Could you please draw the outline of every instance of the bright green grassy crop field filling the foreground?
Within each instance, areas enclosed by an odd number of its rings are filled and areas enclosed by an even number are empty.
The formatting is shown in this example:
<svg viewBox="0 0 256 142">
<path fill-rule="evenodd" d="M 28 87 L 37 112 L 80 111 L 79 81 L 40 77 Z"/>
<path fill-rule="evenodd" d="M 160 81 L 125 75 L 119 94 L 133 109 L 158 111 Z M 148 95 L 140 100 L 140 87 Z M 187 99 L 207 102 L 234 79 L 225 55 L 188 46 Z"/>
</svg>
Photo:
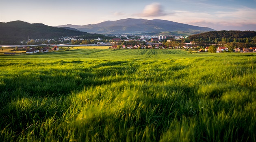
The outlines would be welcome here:
<svg viewBox="0 0 256 142">
<path fill-rule="evenodd" d="M 255 142 L 256 54 L 0 55 L 0 141 Z"/>
</svg>

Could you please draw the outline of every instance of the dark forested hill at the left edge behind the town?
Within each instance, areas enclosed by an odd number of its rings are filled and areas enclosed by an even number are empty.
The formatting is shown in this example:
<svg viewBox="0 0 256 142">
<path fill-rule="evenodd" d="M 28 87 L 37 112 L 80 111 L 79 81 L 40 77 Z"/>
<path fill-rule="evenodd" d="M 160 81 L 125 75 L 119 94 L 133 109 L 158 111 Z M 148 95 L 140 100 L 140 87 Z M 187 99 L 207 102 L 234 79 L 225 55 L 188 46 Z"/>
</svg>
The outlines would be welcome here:
<svg viewBox="0 0 256 142">
<path fill-rule="evenodd" d="M 0 40 L 2 41 L 28 40 L 28 36 L 33 39 L 47 39 L 88 34 L 87 32 L 51 27 L 42 23 L 30 24 L 24 21 L 0 22 Z"/>
</svg>

